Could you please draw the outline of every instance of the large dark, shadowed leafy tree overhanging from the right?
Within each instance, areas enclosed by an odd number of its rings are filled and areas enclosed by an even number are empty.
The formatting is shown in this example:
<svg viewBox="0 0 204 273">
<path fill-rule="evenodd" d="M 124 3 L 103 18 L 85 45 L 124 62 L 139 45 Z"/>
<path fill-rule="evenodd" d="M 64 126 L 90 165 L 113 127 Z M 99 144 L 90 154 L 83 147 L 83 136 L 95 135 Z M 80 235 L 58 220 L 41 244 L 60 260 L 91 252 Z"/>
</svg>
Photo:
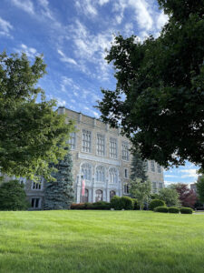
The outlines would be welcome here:
<svg viewBox="0 0 204 273">
<path fill-rule="evenodd" d="M 143 159 L 204 167 L 204 1 L 158 2 L 169 15 L 158 38 L 115 37 L 106 60 L 117 85 L 102 89 L 98 108 Z"/>
</svg>

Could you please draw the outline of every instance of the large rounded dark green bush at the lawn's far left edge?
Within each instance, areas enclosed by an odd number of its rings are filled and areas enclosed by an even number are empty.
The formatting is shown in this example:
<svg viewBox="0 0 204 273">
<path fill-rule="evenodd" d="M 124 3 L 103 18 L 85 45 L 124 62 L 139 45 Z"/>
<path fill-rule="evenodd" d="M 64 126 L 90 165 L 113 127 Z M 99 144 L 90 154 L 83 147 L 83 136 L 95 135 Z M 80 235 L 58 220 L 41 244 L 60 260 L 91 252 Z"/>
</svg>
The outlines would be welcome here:
<svg viewBox="0 0 204 273">
<path fill-rule="evenodd" d="M 25 210 L 28 207 L 24 185 L 11 180 L 0 186 L 0 210 Z"/>
</svg>

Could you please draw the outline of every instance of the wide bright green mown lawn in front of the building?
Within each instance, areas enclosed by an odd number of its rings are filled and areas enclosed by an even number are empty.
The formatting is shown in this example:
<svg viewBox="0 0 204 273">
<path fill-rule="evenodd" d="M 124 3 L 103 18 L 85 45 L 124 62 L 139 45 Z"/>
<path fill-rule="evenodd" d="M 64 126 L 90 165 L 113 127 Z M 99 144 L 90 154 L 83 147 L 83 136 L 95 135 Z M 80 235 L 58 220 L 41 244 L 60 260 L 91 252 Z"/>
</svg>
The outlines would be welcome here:
<svg viewBox="0 0 204 273">
<path fill-rule="evenodd" d="M 0 212 L 0 272 L 204 272 L 204 215 Z"/>
</svg>

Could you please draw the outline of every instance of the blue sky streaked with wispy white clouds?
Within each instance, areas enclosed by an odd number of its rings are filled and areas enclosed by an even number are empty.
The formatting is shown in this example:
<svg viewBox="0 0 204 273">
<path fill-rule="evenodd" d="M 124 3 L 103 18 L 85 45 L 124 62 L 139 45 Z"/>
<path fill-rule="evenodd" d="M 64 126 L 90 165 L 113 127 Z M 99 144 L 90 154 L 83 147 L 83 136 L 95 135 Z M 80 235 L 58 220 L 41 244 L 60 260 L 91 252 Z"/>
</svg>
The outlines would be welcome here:
<svg viewBox="0 0 204 273">
<path fill-rule="evenodd" d="M 1 0 L 0 52 L 24 52 L 31 62 L 43 54 L 46 97 L 98 118 L 101 88 L 116 84 L 104 60 L 114 36 L 157 37 L 167 21 L 155 0 Z M 187 162 L 164 171 L 166 186 L 195 182 L 197 169 Z"/>
</svg>

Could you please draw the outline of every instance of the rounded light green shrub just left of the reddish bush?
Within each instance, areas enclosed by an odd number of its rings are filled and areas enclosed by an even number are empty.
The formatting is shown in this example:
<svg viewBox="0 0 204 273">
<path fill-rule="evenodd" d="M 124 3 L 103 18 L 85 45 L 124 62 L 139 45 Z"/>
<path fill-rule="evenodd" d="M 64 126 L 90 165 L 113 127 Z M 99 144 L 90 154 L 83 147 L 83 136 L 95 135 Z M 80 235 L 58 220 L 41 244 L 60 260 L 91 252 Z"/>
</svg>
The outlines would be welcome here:
<svg viewBox="0 0 204 273">
<path fill-rule="evenodd" d="M 159 196 L 160 199 L 163 200 L 168 207 L 180 206 L 179 194 L 174 188 L 161 188 Z"/>
</svg>

